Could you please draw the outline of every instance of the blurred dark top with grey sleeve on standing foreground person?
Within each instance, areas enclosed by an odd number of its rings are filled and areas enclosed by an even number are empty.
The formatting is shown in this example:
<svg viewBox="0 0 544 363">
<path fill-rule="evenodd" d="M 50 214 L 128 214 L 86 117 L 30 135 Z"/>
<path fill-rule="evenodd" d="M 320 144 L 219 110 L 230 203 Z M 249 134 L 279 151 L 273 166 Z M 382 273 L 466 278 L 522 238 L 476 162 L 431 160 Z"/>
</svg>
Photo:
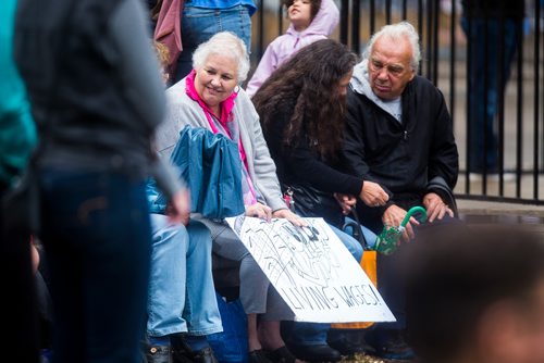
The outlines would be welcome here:
<svg viewBox="0 0 544 363">
<path fill-rule="evenodd" d="M 42 165 L 146 174 L 164 86 L 136 0 L 21 0 L 14 55 Z"/>
</svg>

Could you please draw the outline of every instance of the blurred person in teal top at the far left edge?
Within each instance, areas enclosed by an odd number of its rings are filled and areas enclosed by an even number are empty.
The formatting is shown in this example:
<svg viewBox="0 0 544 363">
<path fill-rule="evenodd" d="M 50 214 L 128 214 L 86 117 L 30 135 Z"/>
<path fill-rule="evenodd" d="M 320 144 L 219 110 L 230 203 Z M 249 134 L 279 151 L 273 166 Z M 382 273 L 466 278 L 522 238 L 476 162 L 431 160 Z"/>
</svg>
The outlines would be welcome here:
<svg viewBox="0 0 544 363">
<path fill-rule="evenodd" d="M 26 90 L 13 61 L 13 28 L 17 1 L 0 2 L 0 199 L 16 183 L 36 145 L 36 127 Z M 36 295 L 30 263 L 30 235 L 8 226 L 0 208 L 2 287 L 5 311 L 2 322 L 10 327 L 2 351 L 16 352 L 21 362 L 38 361 Z"/>
</svg>

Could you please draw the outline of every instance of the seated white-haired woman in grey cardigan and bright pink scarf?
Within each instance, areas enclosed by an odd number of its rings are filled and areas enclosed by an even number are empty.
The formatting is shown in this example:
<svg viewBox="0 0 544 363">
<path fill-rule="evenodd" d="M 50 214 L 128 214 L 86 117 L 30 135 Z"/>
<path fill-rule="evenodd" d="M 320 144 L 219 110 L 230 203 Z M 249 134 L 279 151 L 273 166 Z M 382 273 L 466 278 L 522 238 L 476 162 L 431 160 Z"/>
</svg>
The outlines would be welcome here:
<svg viewBox="0 0 544 363">
<path fill-rule="evenodd" d="M 184 126 L 223 134 L 238 146 L 246 215 L 305 222 L 290 212 L 280 189 L 275 165 L 262 136 L 259 116 L 245 91 L 249 58 L 244 42 L 222 32 L 201 43 L 193 55 L 193 72 L 168 90 L 168 116 L 157 135 L 162 153 L 172 152 Z M 250 362 L 294 362 L 280 335 L 280 321 L 293 318 L 290 310 L 234 231 L 222 222 L 198 215 L 213 238 L 213 252 L 239 261 L 239 297 L 248 315 Z M 270 291 L 269 291 L 270 289 Z M 259 327 L 257 315 L 262 314 Z M 261 338 L 259 340 L 259 338 Z M 264 353 L 264 350 L 270 353 Z"/>
</svg>

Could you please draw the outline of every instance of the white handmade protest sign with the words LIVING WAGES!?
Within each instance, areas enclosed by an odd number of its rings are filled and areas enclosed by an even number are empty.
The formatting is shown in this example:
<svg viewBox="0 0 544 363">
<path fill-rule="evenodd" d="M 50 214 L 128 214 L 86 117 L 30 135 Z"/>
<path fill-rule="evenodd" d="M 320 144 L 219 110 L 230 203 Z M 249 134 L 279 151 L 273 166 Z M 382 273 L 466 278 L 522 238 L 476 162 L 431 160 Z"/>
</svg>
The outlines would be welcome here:
<svg viewBox="0 0 544 363">
<path fill-rule="evenodd" d="M 394 322 L 395 317 L 323 218 L 308 227 L 286 220 L 237 216 L 226 222 L 249 250 L 295 320 L 318 323 Z"/>
</svg>

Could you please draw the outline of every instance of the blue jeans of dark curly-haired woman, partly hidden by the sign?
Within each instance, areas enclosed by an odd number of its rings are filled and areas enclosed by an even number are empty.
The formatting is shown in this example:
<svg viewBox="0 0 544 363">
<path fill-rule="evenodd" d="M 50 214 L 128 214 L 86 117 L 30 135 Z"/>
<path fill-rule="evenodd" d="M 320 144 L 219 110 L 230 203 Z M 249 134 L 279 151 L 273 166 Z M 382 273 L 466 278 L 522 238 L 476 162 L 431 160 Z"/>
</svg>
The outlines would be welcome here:
<svg viewBox="0 0 544 363">
<path fill-rule="evenodd" d="M 360 262 L 362 259 L 362 246 L 359 241 L 335 226 L 331 224 L 329 226 L 348 249 L 354 259 Z M 326 335 L 331 325 L 325 323 L 295 322 L 293 323 L 288 340 L 290 343 L 301 346 L 326 345 Z"/>
</svg>

